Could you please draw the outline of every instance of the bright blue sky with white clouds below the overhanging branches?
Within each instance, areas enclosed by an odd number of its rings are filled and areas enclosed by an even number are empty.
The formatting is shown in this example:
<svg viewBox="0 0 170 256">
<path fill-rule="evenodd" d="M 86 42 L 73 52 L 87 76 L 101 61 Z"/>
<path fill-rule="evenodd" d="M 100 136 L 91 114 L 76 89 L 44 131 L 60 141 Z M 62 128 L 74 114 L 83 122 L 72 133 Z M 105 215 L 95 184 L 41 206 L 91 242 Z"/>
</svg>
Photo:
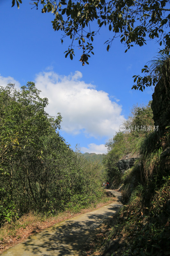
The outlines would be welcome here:
<svg viewBox="0 0 170 256">
<path fill-rule="evenodd" d="M 80 144 L 83 153 L 106 152 L 104 144 L 128 118 L 130 108 L 152 99 L 151 88 L 131 90 L 132 76 L 157 55 L 159 44 L 148 41 L 124 53 L 118 38 L 107 52 L 104 42 L 112 34 L 103 27 L 94 37 L 95 55 L 83 67 L 76 47 L 76 57 L 65 58 L 70 41 L 65 38 L 61 44 L 61 33 L 52 28 L 53 15 L 31 7 L 29 1 L 19 10 L 11 8 L 11 0 L 0 2 L 0 84 L 19 87 L 34 81 L 41 96 L 49 99 L 47 112 L 63 116 L 60 134 L 73 149 Z"/>
</svg>

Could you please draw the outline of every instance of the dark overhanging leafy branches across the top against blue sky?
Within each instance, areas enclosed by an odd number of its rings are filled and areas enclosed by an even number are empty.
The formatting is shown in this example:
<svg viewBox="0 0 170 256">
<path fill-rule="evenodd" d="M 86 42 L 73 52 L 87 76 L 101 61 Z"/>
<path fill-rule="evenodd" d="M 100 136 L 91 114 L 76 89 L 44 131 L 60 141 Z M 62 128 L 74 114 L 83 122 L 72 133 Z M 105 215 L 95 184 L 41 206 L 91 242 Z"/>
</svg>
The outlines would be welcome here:
<svg viewBox="0 0 170 256">
<path fill-rule="evenodd" d="M 84 66 L 93 52 L 93 38 L 99 34 L 101 27 L 110 31 L 106 38 L 107 51 L 116 37 L 125 44 L 126 50 L 135 44 L 143 46 L 147 40 L 156 39 L 162 50 L 169 54 L 170 48 L 170 1 L 169 0 L 32 0 L 33 7 L 41 7 L 42 13 L 51 12 L 51 21 L 55 31 L 61 30 L 63 37 L 70 37 L 70 44 L 65 57 L 73 59 L 75 46 L 82 50 L 80 61 Z M 21 0 L 12 0 L 12 7 Z M 77 40 L 77 41 L 75 41 Z M 143 71 L 147 71 L 147 66 Z M 137 85 L 132 89 L 143 90 L 143 80 L 134 76 Z M 137 79 L 139 78 L 139 79 Z M 141 83 L 142 80 L 142 83 Z M 145 81 L 146 80 L 146 81 Z M 151 79 L 150 79 L 151 80 Z M 144 78 L 146 86 L 155 81 Z"/>
</svg>

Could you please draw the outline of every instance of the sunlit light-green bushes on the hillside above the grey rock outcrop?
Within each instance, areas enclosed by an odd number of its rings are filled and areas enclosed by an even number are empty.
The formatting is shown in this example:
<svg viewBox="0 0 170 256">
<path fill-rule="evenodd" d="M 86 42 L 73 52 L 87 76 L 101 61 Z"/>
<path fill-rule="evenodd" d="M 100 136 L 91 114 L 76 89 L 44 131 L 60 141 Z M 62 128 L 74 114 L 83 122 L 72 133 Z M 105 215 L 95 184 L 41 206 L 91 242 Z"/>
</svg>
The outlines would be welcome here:
<svg viewBox="0 0 170 256">
<path fill-rule="evenodd" d="M 133 155 L 136 151 L 137 143 L 153 131 L 152 116 L 151 101 L 146 106 L 134 105 L 128 120 L 124 122 L 127 130 L 116 132 L 113 139 L 106 143 L 108 153 L 104 156 L 103 163 L 110 183 L 114 181 L 115 186 L 121 184 L 123 175 L 116 163 L 124 155 Z"/>
</svg>

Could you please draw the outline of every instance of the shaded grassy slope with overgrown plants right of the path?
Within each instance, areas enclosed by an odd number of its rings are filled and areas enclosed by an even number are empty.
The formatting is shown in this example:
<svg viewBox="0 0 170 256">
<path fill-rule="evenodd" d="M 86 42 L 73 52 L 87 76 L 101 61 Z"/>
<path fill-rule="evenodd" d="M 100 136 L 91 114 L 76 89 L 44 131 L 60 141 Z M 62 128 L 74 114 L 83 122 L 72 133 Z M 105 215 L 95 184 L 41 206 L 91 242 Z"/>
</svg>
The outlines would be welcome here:
<svg viewBox="0 0 170 256">
<path fill-rule="evenodd" d="M 149 132 L 137 140 L 135 150 L 140 158 L 135 165 L 119 176 L 112 169 L 114 179 L 124 183 L 125 205 L 95 236 L 84 255 L 170 254 L 169 141 L 169 131 L 162 136 Z"/>
</svg>

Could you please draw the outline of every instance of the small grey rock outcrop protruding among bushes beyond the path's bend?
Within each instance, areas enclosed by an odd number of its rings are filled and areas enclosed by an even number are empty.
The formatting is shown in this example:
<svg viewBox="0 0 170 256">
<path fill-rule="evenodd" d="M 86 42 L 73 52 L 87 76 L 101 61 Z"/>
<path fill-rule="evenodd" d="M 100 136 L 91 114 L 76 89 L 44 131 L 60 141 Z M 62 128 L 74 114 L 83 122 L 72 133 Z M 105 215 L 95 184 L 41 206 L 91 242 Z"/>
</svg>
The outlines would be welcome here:
<svg viewBox="0 0 170 256">
<path fill-rule="evenodd" d="M 116 164 L 119 168 L 119 171 L 125 172 L 129 168 L 131 168 L 135 161 L 139 158 L 138 155 L 132 155 L 128 154 L 126 156 L 123 156 L 122 159 L 120 159 Z"/>
</svg>

